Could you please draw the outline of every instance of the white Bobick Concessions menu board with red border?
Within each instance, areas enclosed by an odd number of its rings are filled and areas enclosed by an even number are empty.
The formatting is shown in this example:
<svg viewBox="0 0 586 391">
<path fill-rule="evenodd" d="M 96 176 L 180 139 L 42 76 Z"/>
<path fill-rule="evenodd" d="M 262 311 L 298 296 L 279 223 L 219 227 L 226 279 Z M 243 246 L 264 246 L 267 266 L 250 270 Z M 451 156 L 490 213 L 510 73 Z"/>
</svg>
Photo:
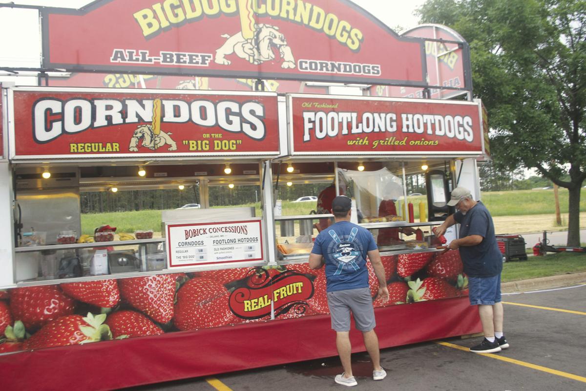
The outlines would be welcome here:
<svg viewBox="0 0 586 391">
<path fill-rule="evenodd" d="M 167 223 L 169 268 L 263 260 L 260 219 Z"/>
</svg>

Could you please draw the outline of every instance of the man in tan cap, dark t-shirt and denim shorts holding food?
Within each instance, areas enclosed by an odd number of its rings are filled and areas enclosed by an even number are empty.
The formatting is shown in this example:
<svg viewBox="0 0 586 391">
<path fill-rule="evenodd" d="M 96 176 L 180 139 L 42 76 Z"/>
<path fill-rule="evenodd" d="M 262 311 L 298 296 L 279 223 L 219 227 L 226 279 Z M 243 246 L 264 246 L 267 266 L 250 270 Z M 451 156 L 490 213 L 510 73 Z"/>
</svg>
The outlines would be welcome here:
<svg viewBox="0 0 586 391">
<path fill-rule="evenodd" d="M 495 225 L 484 204 L 473 200 L 470 191 L 464 187 L 452 191 L 448 205 L 455 206 L 458 212 L 448 216 L 435 234 L 440 236 L 449 226 L 460 224 L 459 239 L 452 240 L 448 248 L 460 251 L 464 272 L 468 275 L 470 304 L 478 305 L 485 337 L 470 351 L 500 352 L 509 344 L 503 335 L 503 304 L 500 302 L 503 255 L 496 243 Z"/>
</svg>

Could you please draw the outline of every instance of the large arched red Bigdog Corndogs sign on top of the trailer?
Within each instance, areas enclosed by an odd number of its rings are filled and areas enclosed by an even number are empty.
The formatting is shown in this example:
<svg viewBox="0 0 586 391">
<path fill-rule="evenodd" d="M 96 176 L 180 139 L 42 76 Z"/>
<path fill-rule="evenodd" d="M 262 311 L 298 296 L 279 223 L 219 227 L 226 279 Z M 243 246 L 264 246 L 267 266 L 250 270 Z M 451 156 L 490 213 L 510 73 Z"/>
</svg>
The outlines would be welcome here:
<svg viewBox="0 0 586 391">
<path fill-rule="evenodd" d="M 347 0 L 98 0 L 41 12 L 48 68 L 426 84 L 423 40 Z"/>
</svg>

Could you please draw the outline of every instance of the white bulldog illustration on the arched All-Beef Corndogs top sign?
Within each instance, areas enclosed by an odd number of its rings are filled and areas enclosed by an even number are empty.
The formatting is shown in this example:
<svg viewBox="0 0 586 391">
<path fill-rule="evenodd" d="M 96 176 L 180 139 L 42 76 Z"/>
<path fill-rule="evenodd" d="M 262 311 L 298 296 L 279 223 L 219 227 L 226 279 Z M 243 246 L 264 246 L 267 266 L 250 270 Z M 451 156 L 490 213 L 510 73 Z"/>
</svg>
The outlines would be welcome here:
<svg viewBox="0 0 586 391">
<path fill-rule="evenodd" d="M 241 59 L 247 60 L 251 64 L 260 64 L 265 61 L 275 59 L 275 52 L 281 56 L 281 68 L 288 69 L 295 67 L 295 59 L 291 52 L 291 47 L 287 46 L 285 35 L 279 32 L 277 26 L 254 24 L 252 38 L 245 38 L 244 31 L 232 36 L 229 34 L 222 35 L 227 38 L 224 45 L 216 50 L 217 64 L 229 65 L 230 60 L 226 56 L 236 53 Z"/>
</svg>

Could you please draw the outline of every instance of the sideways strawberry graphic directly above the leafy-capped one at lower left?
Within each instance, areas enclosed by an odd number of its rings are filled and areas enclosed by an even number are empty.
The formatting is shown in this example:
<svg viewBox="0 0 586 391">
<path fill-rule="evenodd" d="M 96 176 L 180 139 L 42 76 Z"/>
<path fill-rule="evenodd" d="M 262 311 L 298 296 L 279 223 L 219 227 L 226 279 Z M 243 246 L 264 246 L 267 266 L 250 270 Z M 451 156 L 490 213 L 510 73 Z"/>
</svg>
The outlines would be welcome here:
<svg viewBox="0 0 586 391">
<path fill-rule="evenodd" d="M 120 301 L 116 280 L 87 281 L 84 283 L 60 284 L 64 293 L 87 304 L 112 308 Z"/>
</svg>

